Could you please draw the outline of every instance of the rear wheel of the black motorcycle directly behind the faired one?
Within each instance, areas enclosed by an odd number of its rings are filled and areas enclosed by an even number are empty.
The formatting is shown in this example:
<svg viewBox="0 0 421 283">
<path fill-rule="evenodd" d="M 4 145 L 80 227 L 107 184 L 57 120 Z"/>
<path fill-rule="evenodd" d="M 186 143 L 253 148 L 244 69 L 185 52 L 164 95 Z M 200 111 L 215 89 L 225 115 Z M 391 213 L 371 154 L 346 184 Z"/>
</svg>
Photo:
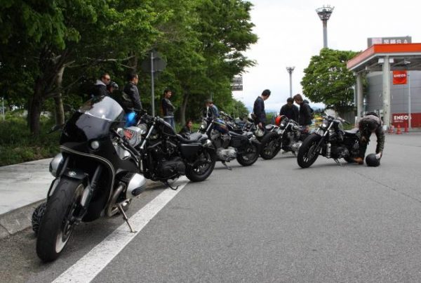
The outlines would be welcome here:
<svg viewBox="0 0 421 283">
<path fill-rule="evenodd" d="M 216 154 L 213 150 L 203 150 L 193 165 L 186 166 L 186 176 L 193 182 L 206 180 L 215 168 Z"/>
</svg>

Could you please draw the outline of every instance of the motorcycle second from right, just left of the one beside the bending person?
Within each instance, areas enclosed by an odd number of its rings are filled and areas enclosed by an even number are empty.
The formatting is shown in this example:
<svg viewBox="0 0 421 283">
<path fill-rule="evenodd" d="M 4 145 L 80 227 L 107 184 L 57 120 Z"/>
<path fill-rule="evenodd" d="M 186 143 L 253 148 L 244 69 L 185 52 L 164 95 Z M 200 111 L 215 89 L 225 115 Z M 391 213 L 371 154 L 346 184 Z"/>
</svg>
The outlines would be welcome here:
<svg viewBox="0 0 421 283">
<path fill-rule="evenodd" d="M 260 140 L 260 143 L 262 143 L 260 156 L 263 159 L 274 158 L 280 150 L 293 152 L 296 155 L 302 140 L 308 136 L 307 133 L 302 131 L 298 122 L 288 119 L 286 116 L 279 117 L 279 121 L 276 121 L 275 125 L 267 125 L 266 131 L 267 133 Z"/>
</svg>

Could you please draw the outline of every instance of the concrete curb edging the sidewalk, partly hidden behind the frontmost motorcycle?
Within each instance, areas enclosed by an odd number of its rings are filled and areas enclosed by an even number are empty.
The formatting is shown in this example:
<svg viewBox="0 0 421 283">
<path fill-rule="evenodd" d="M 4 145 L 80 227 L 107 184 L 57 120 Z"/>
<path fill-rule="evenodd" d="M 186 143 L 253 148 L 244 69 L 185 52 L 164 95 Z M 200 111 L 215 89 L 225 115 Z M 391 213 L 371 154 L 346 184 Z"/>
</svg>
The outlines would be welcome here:
<svg viewBox="0 0 421 283">
<path fill-rule="evenodd" d="M 153 190 L 158 187 L 162 187 L 162 183 L 147 180 L 147 187 L 145 190 Z M 25 230 L 32 226 L 32 213 L 36 206 L 45 202 L 45 199 L 41 199 L 32 204 L 22 206 L 13 211 L 6 212 L 0 215 L 0 239 L 10 237 L 22 230 Z"/>
</svg>

